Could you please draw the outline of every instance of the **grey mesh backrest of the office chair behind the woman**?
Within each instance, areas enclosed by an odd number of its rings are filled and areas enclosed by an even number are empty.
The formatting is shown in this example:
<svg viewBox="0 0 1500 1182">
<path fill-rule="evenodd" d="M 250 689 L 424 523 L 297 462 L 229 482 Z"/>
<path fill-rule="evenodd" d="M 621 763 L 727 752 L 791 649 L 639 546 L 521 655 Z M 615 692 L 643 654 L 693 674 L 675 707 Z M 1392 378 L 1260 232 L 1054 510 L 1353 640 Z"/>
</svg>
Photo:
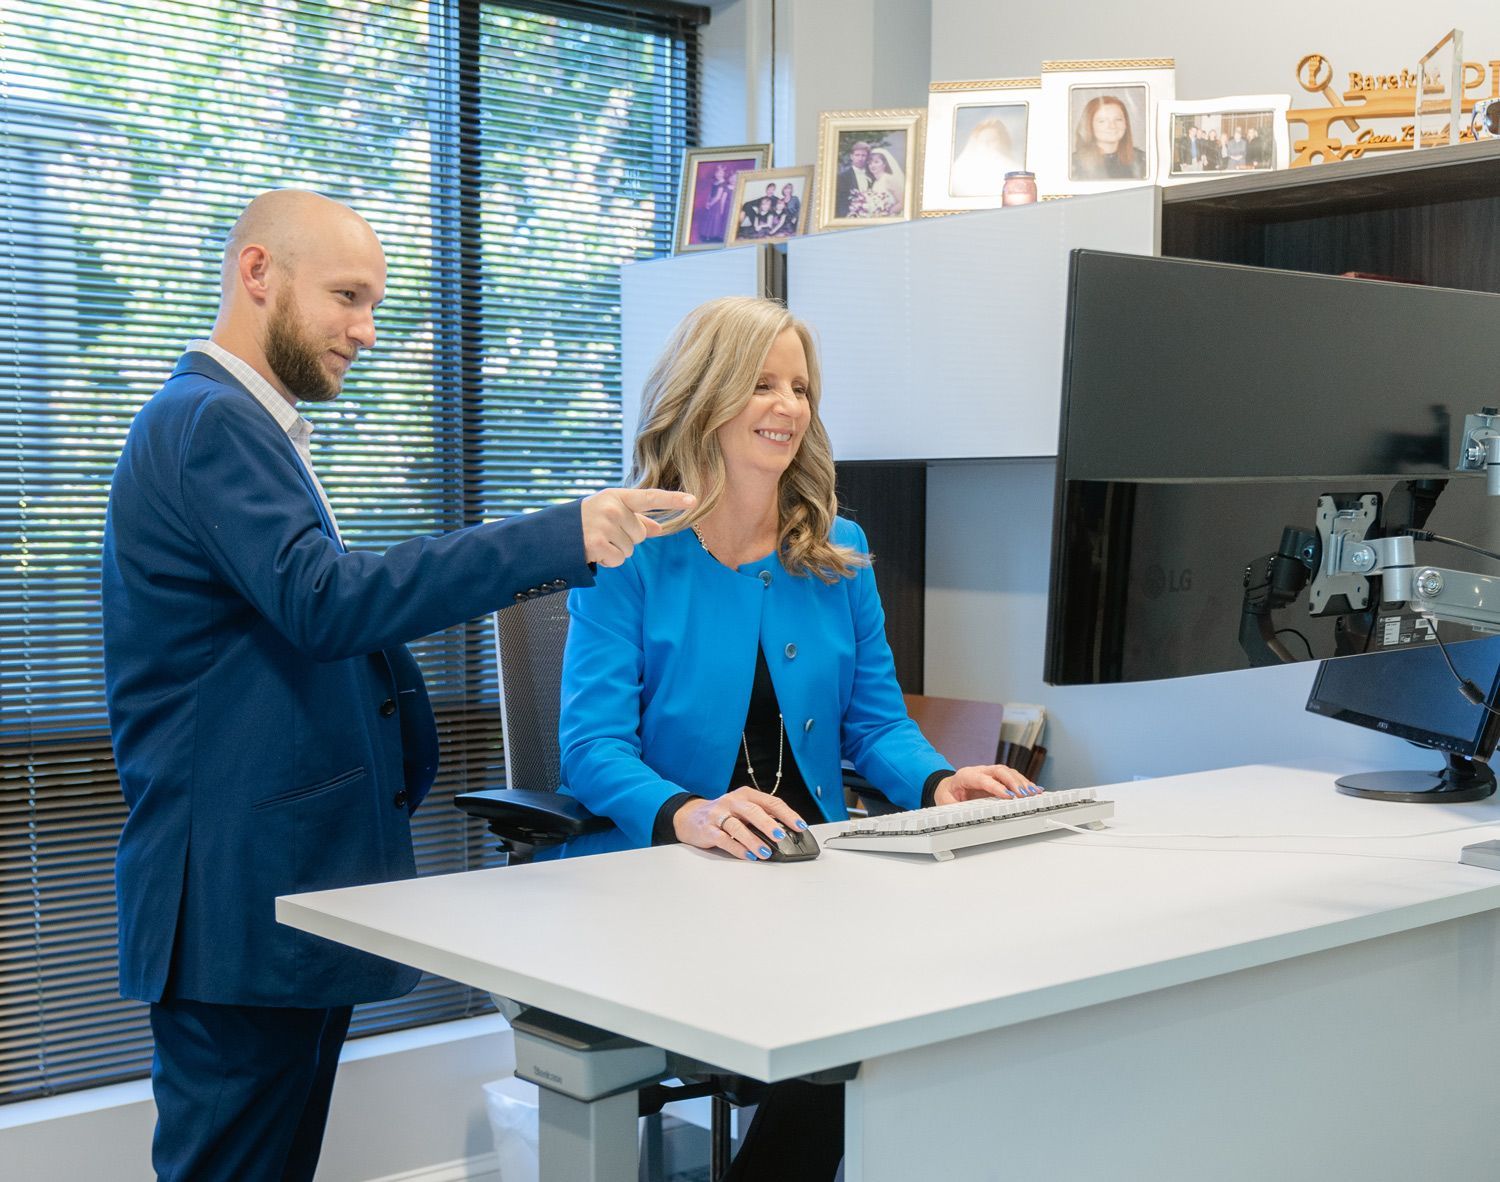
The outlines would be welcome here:
<svg viewBox="0 0 1500 1182">
<path fill-rule="evenodd" d="M 567 596 L 542 596 L 495 612 L 506 786 L 552 792 L 562 782 L 558 712 Z"/>
</svg>

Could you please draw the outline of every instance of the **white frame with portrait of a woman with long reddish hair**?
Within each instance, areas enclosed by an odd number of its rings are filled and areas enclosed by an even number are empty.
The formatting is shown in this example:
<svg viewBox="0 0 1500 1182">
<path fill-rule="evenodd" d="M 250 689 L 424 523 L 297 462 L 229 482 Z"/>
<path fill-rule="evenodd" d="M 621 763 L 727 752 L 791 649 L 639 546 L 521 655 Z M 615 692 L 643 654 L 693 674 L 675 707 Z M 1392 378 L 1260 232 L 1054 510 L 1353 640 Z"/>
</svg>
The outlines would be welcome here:
<svg viewBox="0 0 1500 1182">
<path fill-rule="evenodd" d="M 1170 57 L 1042 62 L 1047 196 L 1096 194 L 1156 180 L 1156 105 L 1176 99 Z"/>
</svg>

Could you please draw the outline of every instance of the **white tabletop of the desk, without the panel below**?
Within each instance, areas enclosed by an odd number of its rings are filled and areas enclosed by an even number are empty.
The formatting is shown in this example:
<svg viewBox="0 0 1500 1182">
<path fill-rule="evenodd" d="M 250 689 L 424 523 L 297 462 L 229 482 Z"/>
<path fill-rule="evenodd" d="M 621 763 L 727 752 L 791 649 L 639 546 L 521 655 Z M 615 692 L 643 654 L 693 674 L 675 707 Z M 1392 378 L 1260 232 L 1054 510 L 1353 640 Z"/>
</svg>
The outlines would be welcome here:
<svg viewBox="0 0 1500 1182">
<path fill-rule="evenodd" d="M 1326 770 L 1284 766 L 1100 794 L 1113 837 L 951 862 L 825 848 L 741 864 L 674 846 L 294 896 L 276 914 L 778 1080 L 1500 908 L 1500 873 L 1458 862 L 1500 830 L 1374 837 L 1500 824 L 1494 800 L 1364 801 Z M 1167 831 L 1347 837 L 1119 840 Z"/>
</svg>

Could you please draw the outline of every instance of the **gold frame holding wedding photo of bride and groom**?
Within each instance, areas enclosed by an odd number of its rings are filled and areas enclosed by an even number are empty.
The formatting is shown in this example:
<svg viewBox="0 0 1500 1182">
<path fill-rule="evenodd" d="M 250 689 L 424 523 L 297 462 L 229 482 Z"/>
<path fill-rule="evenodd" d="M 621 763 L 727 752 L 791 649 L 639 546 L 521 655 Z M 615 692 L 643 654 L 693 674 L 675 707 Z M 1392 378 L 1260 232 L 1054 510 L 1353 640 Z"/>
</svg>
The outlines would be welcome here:
<svg viewBox="0 0 1500 1182">
<path fill-rule="evenodd" d="M 926 122 L 927 111 L 920 106 L 824 111 L 818 117 L 818 230 L 915 218 Z M 878 164 L 872 158 L 879 158 Z"/>
</svg>

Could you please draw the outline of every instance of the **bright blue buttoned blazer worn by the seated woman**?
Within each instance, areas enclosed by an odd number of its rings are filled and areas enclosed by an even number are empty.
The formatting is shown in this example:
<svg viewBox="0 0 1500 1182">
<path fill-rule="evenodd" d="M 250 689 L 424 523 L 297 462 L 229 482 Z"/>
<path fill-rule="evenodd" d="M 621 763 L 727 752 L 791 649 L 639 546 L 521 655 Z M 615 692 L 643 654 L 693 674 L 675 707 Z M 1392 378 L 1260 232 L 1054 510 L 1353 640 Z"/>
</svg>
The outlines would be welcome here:
<svg viewBox="0 0 1500 1182">
<path fill-rule="evenodd" d="M 834 540 L 867 552 L 850 520 L 834 522 Z M 834 584 L 790 574 L 776 555 L 730 570 L 684 530 L 600 570 L 568 596 L 568 614 L 564 790 L 622 832 L 572 842 L 570 854 L 646 846 L 670 796 L 728 790 L 756 648 L 824 819 L 848 816 L 843 759 L 906 807 L 948 766 L 906 712 L 870 567 Z"/>
</svg>

